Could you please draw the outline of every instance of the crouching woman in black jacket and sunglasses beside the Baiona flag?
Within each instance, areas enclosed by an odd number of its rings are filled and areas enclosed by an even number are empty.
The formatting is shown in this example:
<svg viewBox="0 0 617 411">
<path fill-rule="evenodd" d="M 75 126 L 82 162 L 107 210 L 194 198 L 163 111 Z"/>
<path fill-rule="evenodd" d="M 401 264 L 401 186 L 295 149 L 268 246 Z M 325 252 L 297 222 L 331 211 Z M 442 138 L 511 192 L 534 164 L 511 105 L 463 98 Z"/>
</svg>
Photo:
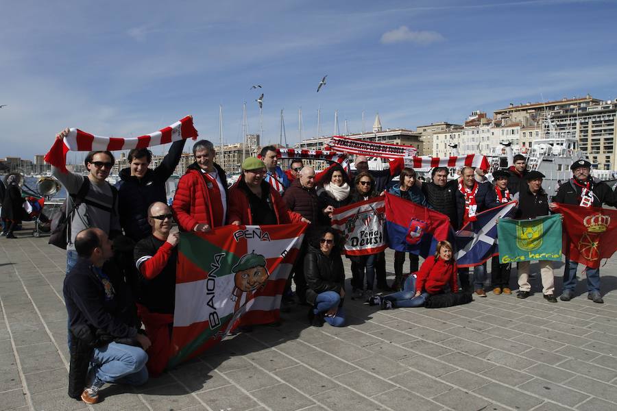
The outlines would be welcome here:
<svg viewBox="0 0 617 411">
<path fill-rule="evenodd" d="M 306 277 L 306 302 L 309 308 L 309 323 L 316 327 L 324 321 L 333 327 L 345 325 L 343 297 L 345 297 L 345 269 L 338 247 L 338 235 L 334 229 L 322 229 L 309 243 L 304 257 Z"/>
</svg>

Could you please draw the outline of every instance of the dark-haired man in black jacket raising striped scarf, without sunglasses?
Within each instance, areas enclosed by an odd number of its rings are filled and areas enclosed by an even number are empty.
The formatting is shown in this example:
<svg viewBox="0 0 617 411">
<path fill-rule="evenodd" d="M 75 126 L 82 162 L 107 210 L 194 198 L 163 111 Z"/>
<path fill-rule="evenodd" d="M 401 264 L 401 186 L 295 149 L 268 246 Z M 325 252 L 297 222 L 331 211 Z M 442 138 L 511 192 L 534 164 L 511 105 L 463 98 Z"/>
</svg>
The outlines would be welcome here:
<svg viewBox="0 0 617 411">
<path fill-rule="evenodd" d="M 119 173 L 117 184 L 120 225 L 126 236 L 135 242 L 150 235 L 148 207 L 160 201 L 167 204 L 165 182 L 173 174 L 180 162 L 186 140 L 173 142 L 156 169 L 149 169 L 152 151 L 132 149 L 128 154 L 130 166 Z"/>
</svg>

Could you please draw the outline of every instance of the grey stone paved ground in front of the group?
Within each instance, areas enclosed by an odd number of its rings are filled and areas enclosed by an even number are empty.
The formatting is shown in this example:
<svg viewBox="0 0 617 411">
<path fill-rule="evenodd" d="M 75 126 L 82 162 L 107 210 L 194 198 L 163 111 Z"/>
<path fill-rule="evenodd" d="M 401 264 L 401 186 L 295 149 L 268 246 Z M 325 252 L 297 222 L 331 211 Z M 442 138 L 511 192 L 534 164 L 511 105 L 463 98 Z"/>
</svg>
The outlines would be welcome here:
<svg viewBox="0 0 617 411">
<path fill-rule="evenodd" d="M 339 329 L 308 327 L 302 307 L 86 406 L 66 396 L 64 253 L 28 234 L 0 238 L 0 410 L 617 410 L 616 259 L 604 305 L 583 284 L 547 303 L 536 279 L 529 299 L 443 310 L 346 301 Z"/>
</svg>

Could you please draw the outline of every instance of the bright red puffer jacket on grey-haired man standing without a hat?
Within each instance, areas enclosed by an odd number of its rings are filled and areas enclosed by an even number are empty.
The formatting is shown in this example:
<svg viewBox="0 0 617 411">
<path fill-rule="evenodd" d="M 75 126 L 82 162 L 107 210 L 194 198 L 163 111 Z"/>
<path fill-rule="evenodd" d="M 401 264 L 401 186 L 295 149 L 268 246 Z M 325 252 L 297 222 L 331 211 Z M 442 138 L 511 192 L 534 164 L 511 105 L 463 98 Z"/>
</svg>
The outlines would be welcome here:
<svg viewBox="0 0 617 411">
<path fill-rule="evenodd" d="M 227 178 L 225 172 L 218 164 L 215 164 L 215 169 L 219 173 L 219 178 L 223 183 L 223 187 L 227 191 Z M 173 218 L 176 219 L 180 229 L 184 231 L 193 231 L 197 224 L 208 224 L 210 227 L 220 227 L 223 219 L 222 211 L 220 216 L 215 216 L 213 212 L 213 202 L 218 201 L 214 210 L 222 210 L 220 204 L 221 198 L 212 195 L 212 192 L 206 186 L 206 181 L 202 175 L 202 171 L 195 164 L 191 164 L 186 174 L 180 178 L 176 195 L 173 197 L 171 211 Z"/>
</svg>

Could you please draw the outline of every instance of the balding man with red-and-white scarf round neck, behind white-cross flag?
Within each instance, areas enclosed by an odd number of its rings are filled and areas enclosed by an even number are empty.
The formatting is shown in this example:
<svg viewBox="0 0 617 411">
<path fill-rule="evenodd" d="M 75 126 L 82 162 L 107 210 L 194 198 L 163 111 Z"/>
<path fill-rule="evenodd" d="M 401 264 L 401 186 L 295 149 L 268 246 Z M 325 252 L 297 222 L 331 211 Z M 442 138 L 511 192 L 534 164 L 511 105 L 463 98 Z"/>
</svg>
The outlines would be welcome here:
<svg viewBox="0 0 617 411">
<path fill-rule="evenodd" d="M 462 179 L 457 186 L 457 208 L 458 214 L 463 216 L 463 225 L 473 223 L 477 220 L 476 215 L 487 207 L 487 193 L 491 185 L 489 183 L 479 183 L 475 178 L 475 171 L 472 167 L 465 166 L 461 169 Z M 484 279 L 486 267 L 484 264 L 474 266 L 474 290 L 478 297 L 486 297 L 484 291 Z M 461 288 L 469 287 L 469 270 L 459 269 L 459 279 Z"/>
</svg>

